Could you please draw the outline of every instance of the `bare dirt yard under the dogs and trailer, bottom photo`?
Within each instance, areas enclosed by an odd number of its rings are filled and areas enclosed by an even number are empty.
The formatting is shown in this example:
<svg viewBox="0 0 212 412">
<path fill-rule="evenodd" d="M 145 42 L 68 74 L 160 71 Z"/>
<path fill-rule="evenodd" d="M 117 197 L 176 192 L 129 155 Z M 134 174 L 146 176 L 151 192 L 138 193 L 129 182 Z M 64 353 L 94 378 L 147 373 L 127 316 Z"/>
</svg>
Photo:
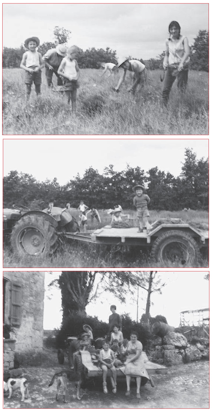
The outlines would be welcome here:
<svg viewBox="0 0 212 412">
<path fill-rule="evenodd" d="M 61 367 L 62 366 L 62 367 Z M 28 367 L 30 399 L 21 402 L 20 393 L 8 399 L 5 408 L 209 408 L 209 361 L 196 361 L 187 365 L 172 366 L 165 375 L 152 375 L 155 388 L 149 383 L 141 387 L 141 399 L 136 398 L 136 384 L 131 382 L 131 396 L 126 398 L 125 378 L 118 380 L 117 393 L 113 394 L 108 383 L 108 394 L 102 391 L 101 377 L 95 386 L 88 382 L 83 390 L 82 400 L 76 397 L 75 377 L 68 380 L 66 403 L 55 400 L 56 386 L 49 388 L 53 375 L 61 369 L 68 369 L 67 358 L 64 365 L 57 362 L 57 352 L 45 349 L 42 367 Z"/>
</svg>

